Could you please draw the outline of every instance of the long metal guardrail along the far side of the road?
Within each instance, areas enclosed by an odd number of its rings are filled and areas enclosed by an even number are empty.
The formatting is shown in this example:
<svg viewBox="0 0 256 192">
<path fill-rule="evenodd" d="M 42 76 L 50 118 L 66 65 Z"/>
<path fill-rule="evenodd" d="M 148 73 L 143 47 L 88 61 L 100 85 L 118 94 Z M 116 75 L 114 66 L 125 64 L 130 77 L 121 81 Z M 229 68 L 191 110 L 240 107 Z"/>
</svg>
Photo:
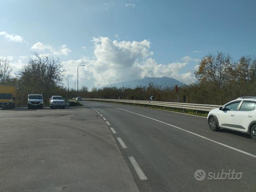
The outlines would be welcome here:
<svg viewBox="0 0 256 192">
<path fill-rule="evenodd" d="M 108 102 L 118 102 L 118 103 L 134 103 L 141 105 L 154 105 L 162 107 L 172 107 L 179 109 L 190 109 L 196 111 L 210 111 L 212 109 L 221 107 L 220 105 L 204 105 L 204 104 L 193 104 L 193 103 L 171 103 L 171 102 L 161 102 L 161 101 L 141 101 L 141 100 L 124 100 L 124 99 L 100 99 L 100 98 L 82 98 L 82 100 L 87 101 L 108 101 Z"/>
</svg>

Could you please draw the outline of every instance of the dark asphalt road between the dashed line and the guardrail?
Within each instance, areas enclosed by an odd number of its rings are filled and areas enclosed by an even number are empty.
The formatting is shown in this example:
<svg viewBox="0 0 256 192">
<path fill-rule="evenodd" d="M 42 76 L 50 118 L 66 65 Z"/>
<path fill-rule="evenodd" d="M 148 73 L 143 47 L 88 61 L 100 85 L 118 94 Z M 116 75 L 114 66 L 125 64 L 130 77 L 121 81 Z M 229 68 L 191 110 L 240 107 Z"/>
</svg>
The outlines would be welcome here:
<svg viewBox="0 0 256 192">
<path fill-rule="evenodd" d="M 112 130 L 141 192 L 256 190 L 256 143 L 249 135 L 213 132 L 204 117 L 118 103 L 82 103 Z M 205 172 L 202 181 L 195 179 L 198 169 Z M 211 179 L 218 173 L 221 178 L 221 172 L 222 179 Z"/>
</svg>

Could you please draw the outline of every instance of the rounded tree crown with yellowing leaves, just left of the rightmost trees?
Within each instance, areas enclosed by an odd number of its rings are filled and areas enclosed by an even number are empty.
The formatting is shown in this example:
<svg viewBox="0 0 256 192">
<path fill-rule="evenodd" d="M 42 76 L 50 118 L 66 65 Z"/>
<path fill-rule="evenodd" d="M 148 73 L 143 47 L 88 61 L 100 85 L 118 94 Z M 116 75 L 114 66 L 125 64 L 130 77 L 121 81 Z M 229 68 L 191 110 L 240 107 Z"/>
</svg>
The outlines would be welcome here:
<svg viewBox="0 0 256 192">
<path fill-rule="evenodd" d="M 217 56 L 209 54 L 199 64 L 195 77 L 199 83 L 213 83 L 217 87 L 224 85 L 230 79 L 233 64 L 230 55 L 218 52 Z"/>
</svg>

